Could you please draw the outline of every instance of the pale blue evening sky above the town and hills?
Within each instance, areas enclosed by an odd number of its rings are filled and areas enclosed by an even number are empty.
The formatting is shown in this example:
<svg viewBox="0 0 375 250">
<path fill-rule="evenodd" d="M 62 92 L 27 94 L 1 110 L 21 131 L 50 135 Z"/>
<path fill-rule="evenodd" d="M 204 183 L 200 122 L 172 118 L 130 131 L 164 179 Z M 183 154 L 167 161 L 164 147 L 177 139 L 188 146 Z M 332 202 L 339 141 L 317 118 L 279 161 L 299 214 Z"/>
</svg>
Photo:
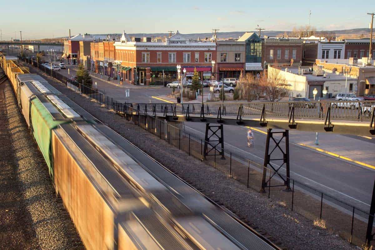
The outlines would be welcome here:
<svg viewBox="0 0 375 250">
<path fill-rule="evenodd" d="M 105 1 L 34 0 L 1 3 L 0 29 L 3 40 L 40 39 L 71 34 L 121 33 L 209 33 L 252 31 L 259 25 L 266 30 L 292 30 L 309 24 L 317 30 L 368 28 L 375 12 L 372 0 L 325 1 Z M 371 9 L 371 7 L 373 9 Z M 219 32 L 220 32 L 219 31 Z"/>
</svg>

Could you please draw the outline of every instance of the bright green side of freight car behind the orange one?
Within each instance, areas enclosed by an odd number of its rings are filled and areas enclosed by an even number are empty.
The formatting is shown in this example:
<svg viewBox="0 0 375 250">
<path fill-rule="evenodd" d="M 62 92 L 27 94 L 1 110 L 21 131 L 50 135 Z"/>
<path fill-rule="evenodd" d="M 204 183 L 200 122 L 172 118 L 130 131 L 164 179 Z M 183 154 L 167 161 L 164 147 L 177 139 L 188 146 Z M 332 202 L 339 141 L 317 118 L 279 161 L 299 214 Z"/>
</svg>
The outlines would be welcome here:
<svg viewBox="0 0 375 250">
<path fill-rule="evenodd" d="M 51 129 L 59 124 L 70 123 L 71 121 L 53 120 L 49 111 L 39 99 L 31 100 L 31 126 L 33 136 L 39 146 L 40 151 L 48 165 L 49 175 L 53 180 L 53 166 L 51 163 Z"/>
</svg>

